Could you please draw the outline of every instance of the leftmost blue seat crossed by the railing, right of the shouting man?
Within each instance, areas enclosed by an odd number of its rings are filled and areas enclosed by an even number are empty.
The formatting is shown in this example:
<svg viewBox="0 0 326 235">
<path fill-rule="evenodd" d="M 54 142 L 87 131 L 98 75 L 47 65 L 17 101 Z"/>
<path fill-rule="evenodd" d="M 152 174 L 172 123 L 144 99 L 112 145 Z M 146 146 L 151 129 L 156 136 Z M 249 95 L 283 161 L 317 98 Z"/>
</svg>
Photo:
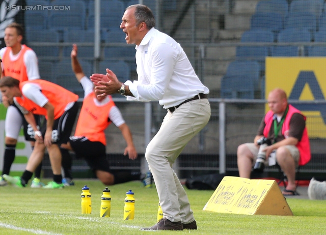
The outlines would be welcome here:
<svg viewBox="0 0 326 235">
<path fill-rule="evenodd" d="M 274 42 L 274 35 L 268 30 L 249 30 L 242 34 L 241 42 Z M 269 46 L 237 46 L 237 59 L 255 60 L 260 65 L 260 71 L 265 71 L 265 57 L 270 55 Z"/>
</svg>

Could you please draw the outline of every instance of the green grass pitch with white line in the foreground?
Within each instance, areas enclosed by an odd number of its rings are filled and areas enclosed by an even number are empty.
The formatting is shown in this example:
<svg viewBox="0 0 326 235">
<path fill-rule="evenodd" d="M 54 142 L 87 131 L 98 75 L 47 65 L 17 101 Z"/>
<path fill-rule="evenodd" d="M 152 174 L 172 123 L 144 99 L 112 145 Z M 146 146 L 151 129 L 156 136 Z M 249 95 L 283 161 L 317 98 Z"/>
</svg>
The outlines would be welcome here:
<svg viewBox="0 0 326 235">
<path fill-rule="evenodd" d="M 46 183 L 46 181 L 44 181 Z M 81 214 L 80 193 L 87 185 L 92 214 Z M 213 191 L 187 190 L 198 230 L 141 231 L 156 223 L 155 187 L 140 182 L 109 186 L 111 217 L 100 218 L 102 190 L 98 180 L 75 180 L 64 189 L 0 188 L 0 234 L 326 234 L 326 201 L 287 198 L 294 216 L 237 215 L 203 211 Z M 123 220 L 125 193 L 135 198 L 134 220 Z"/>
</svg>

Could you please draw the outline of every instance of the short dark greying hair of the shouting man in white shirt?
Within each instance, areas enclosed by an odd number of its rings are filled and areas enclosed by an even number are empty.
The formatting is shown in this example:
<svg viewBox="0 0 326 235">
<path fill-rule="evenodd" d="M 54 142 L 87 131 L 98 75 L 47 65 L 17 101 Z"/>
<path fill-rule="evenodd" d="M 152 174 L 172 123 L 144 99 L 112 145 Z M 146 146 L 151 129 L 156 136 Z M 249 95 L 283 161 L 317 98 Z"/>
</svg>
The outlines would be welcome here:
<svg viewBox="0 0 326 235">
<path fill-rule="evenodd" d="M 152 27 L 155 27 L 155 18 L 153 12 L 151 9 L 149 9 L 149 7 L 141 4 L 135 4 L 127 7 L 126 10 L 130 8 L 135 8 L 134 18 L 136 20 L 136 26 L 142 22 L 145 22 L 148 30 L 150 30 Z"/>
</svg>

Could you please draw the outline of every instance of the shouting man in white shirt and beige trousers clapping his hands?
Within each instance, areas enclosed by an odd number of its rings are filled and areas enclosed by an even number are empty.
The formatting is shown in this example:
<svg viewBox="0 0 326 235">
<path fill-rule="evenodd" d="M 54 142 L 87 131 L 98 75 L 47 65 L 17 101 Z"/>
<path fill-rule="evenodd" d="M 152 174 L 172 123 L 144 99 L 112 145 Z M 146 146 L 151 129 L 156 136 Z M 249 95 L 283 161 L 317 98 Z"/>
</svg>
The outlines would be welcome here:
<svg viewBox="0 0 326 235">
<path fill-rule="evenodd" d="M 154 26 L 155 19 L 148 7 L 129 6 L 120 28 L 126 33 L 126 42 L 136 44 L 138 80 L 122 83 L 109 69 L 106 75 L 93 74 L 91 80 L 98 97 L 120 93 L 128 100 L 159 101 L 168 110 L 145 153 L 164 217 L 143 229 L 197 229 L 189 200 L 172 165 L 188 141 L 209 121 L 209 90 L 197 77 L 181 46 Z"/>
</svg>

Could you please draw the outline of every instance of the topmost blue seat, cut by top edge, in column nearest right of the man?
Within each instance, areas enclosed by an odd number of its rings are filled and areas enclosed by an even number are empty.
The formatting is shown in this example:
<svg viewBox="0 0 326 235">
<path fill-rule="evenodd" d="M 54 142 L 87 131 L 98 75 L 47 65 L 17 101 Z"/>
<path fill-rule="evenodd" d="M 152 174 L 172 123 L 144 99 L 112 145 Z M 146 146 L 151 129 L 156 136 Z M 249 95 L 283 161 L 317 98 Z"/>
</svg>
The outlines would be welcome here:
<svg viewBox="0 0 326 235">
<path fill-rule="evenodd" d="M 262 0 L 256 5 L 256 13 L 278 13 L 284 20 L 288 14 L 288 7 L 286 0 Z"/>
</svg>

